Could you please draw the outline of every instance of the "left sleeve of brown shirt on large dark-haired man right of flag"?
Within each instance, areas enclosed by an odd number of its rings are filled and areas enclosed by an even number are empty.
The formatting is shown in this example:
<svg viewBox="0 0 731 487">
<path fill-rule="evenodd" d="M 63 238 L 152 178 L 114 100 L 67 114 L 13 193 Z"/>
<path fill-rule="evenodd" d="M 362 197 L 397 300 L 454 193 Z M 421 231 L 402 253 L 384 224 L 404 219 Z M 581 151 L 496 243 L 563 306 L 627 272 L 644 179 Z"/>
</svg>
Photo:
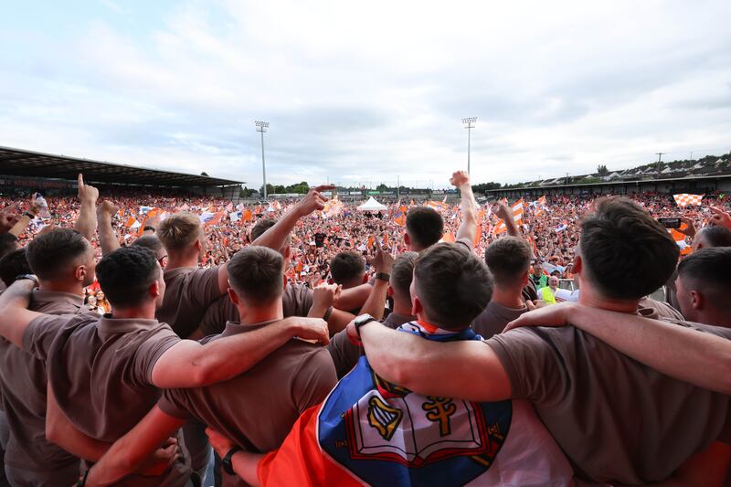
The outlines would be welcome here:
<svg viewBox="0 0 731 487">
<path fill-rule="evenodd" d="M 566 397 L 570 380 L 564 364 L 573 362 L 562 355 L 556 341 L 544 328 L 518 328 L 496 334 L 485 342 L 493 349 L 510 380 L 514 399 L 555 404 Z M 566 327 L 565 330 L 574 330 Z"/>
</svg>

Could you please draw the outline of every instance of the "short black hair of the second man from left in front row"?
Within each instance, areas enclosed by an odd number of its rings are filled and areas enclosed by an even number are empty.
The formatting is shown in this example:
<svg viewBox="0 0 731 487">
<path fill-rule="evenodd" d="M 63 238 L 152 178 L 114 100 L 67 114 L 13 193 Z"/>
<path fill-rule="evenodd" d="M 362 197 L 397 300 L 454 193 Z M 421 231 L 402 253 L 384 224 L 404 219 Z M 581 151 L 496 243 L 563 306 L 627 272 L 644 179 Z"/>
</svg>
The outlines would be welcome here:
<svg viewBox="0 0 731 487">
<path fill-rule="evenodd" d="M 154 281 L 160 278 L 160 264 L 153 251 L 142 246 L 116 249 L 97 264 L 101 291 L 114 308 L 142 304 Z"/>
</svg>

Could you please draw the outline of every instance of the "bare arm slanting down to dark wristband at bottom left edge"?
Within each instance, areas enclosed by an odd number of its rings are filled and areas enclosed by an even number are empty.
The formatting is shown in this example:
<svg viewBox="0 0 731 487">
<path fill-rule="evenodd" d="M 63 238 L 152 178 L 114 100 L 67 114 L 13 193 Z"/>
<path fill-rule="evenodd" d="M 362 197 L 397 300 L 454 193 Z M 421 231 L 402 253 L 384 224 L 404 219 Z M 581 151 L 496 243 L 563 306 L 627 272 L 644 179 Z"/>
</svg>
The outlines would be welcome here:
<svg viewBox="0 0 731 487">
<path fill-rule="evenodd" d="M 101 461 L 89 471 L 86 485 L 112 485 L 139 471 L 143 463 L 184 423 L 155 406 L 137 426 L 114 442 Z"/>
</svg>

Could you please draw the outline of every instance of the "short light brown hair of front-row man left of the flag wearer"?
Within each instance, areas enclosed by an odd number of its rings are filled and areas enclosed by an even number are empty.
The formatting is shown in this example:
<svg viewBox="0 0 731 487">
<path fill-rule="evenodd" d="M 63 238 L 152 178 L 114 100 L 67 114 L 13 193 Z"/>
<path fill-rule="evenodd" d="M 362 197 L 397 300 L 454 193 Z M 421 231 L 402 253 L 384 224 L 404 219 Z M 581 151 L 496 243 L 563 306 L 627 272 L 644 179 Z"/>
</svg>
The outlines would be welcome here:
<svg viewBox="0 0 731 487">
<path fill-rule="evenodd" d="M 283 291 L 284 258 L 267 247 L 253 245 L 238 250 L 226 266 L 228 283 L 249 303 L 267 304 Z"/>
</svg>

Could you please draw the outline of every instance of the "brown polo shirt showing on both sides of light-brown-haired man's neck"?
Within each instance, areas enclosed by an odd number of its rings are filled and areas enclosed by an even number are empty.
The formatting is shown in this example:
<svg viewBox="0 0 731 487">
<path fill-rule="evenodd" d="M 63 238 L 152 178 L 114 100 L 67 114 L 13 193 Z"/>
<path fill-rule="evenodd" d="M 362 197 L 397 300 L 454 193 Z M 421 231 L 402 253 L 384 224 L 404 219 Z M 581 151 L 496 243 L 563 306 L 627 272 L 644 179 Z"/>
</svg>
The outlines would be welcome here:
<svg viewBox="0 0 731 487">
<path fill-rule="evenodd" d="M 167 292 L 167 291 L 165 291 Z M 313 307 L 313 290 L 304 284 L 288 284 L 281 295 L 281 309 L 283 316 L 307 316 Z M 222 333 L 226 323 L 238 323 L 240 317 L 236 305 L 227 296 L 219 298 L 211 304 L 198 328 L 204 335 Z"/>
</svg>

